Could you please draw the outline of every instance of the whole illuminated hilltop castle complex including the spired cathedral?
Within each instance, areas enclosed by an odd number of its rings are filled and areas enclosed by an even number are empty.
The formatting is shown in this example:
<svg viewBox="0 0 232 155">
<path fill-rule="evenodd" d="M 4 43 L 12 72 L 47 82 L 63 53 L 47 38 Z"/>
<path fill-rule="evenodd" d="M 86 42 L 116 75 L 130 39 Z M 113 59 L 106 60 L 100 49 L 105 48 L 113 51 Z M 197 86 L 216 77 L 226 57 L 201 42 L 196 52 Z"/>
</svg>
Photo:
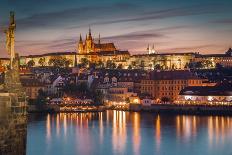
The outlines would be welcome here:
<svg viewBox="0 0 232 155">
<path fill-rule="evenodd" d="M 97 41 L 96 41 L 97 40 Z M 127 50 L 119 50 L 114 43 L 101 43 L 99 35 L 98 39 L 94 39 L 89 28 L 86 39 L 80 39 L 76 44 L 76 51 L 73 52 L 56 52 L 45 53 L 41 55 L 28 55 L 20 57 L 20 65 L 27 66 L 29 61 L 33 61 L 33 66 L 51 66 L 50 60 L 64 58 L 69 60 L 69 67 L 77 64 L 95 64 L 107 66 L 114 63 L 124 69 L 134 68 L 151 70 L 161 68 L 164 70 L 186 69 L 190 62 L 212 61 L 213 66 L 217 63 L 226 67 L 232 66 L 232 50 L 229 49 L 226 54 L 201 55 L 199 53 L 158 53 L 154 44 L 148 45 L 144 54 L 131 55 Z M 0 58 L 0 72 L 9 65 L 8 58 Z M 41 63 L 43 62 L 43 63 Z"/>
</svg>

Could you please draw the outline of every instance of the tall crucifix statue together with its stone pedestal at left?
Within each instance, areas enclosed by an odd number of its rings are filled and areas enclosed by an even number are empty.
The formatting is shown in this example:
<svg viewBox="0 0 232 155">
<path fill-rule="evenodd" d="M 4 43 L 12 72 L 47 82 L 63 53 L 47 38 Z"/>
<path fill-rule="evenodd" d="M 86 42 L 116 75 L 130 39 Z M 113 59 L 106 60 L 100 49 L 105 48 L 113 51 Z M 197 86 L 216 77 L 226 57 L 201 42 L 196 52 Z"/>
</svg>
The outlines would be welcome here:
<svg viewBox="0 0 232 155">
<path fill-rule="evenodd" d="M 19 56 L 15 54 L 15 21 L 10 13 L 10 25 L 5 31 L 6 49 L 10 55 L 10 67 L 0 86 L 0 155 L 25 155 L 27 135 L 27 102 L 19 76 Z"/>
</svg>

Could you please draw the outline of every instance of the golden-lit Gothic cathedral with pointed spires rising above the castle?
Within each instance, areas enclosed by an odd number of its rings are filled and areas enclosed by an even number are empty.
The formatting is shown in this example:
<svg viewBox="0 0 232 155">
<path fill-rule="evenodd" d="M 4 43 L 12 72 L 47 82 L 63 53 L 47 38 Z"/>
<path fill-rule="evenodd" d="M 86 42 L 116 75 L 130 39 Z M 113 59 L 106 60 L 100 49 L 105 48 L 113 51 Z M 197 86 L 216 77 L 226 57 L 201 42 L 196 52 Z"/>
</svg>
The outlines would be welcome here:
<svg viewBox="0 0 232 155">
<path fill-rule="evenodd" d="M 101 43 L 101 38 L 99 34 L 98 42 L 95 43 L 91 34 L 91 29 L 89 29 L 88 36 L 86 35 L 85 41 L 82 40 L 82 36 L 80 35 L 80 40 L 77 46 L 78 54 L 91 54 L 98 53 L 101 51 L 116 51 L 116 47 L 114 43 Z"/>
</svg>

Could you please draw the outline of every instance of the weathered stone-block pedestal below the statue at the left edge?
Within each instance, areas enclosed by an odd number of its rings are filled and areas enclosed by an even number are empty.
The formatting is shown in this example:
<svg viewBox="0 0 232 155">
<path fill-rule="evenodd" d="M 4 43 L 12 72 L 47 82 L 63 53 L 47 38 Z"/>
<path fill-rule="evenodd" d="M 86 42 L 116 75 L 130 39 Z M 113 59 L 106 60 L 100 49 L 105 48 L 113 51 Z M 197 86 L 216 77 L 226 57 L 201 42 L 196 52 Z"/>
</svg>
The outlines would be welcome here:
<svg viewBox="0 0 232 155">
<path fill-rule="evenodd" d="M 26 154 L 26 102 L 12 105 L 17 97 L 17 94 L 0 93 L 0 154 Z"/>
</svg>

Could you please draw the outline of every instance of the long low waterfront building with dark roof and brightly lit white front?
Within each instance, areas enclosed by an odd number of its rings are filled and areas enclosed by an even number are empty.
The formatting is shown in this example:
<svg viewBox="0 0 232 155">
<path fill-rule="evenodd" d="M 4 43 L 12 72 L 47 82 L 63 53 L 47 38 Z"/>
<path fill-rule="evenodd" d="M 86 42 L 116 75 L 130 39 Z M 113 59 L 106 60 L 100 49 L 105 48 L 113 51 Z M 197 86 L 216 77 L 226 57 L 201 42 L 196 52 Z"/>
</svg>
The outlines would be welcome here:
<svg viewBox="0 0 232 155">
<path fill-rule="evenodd" d="M 216 86 L 189 86 L 180 91 L 177 104 L 232 105 L 232 83 Z"/>
</svg>

